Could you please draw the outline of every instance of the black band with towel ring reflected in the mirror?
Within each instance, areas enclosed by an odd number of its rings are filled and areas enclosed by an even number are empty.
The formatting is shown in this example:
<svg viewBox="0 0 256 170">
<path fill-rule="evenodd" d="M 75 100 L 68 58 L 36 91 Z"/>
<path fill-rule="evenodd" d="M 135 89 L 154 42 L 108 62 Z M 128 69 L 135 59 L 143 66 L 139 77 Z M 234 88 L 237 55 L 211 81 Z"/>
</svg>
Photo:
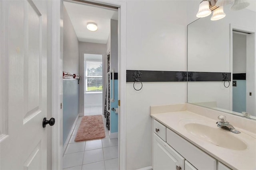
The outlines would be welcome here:
<svg viewBox="0 0 256 170">
<path fill-rule="evenodd" d="M 231 81 L 230 72 L 188 72 L 188 82 Z"/>
</svg>

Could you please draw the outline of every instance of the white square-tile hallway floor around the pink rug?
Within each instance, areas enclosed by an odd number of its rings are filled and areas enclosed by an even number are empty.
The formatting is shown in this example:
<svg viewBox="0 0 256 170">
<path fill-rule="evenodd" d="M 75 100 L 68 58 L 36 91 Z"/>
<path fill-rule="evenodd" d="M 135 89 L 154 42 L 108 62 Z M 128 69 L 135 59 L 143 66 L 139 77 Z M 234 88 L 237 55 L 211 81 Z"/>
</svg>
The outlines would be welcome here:
<svg viewBox="0 0 256 170">
<path fill-rule="evenodd" d="M 85 107 L 85 115 L 102 115 L 102 107 Z M 63 170 L 118 170 L 118 139 L 109 139 L 103 115 L 106 137 L 100 140 L 75 142 L 79 117 L 63 156 Z"/>
</svg>

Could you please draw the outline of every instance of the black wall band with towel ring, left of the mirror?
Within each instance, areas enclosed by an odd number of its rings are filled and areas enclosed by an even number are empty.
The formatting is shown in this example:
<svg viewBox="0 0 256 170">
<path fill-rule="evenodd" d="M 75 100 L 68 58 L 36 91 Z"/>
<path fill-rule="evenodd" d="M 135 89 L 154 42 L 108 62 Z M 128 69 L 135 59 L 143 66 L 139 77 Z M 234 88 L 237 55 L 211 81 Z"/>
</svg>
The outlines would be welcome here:
<svg viewBox="0 0 256 170">
<path fill-rule="evenodd" d="M 141 82 L 186 82 L 187 72 L 184 71 L 149 71 L 139 70 Z M 126 82 L 134 82 L 134 72 L 138 70 L 126 70 Z"/>
</svg>

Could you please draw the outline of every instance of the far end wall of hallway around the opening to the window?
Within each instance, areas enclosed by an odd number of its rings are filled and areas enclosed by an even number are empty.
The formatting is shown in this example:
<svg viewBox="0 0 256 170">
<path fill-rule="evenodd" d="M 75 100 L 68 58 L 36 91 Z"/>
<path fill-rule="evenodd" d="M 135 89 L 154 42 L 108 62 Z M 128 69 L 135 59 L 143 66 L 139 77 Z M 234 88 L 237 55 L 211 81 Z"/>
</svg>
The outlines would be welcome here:
<svg viewBox="0 0 256 170">
<path fill-rule="evenodd" d="M 103 57 L 106 54 L 106 44 L 98 43 L 86 43 L 79 42 L 79 74 L 81 79 L 79 82 L 79 114 L 83 116 L 84 114 L 84 53 L 86 54 L 100 54 Z M 102 101 L 102 99 L 100 100 Z"/>
</svg>

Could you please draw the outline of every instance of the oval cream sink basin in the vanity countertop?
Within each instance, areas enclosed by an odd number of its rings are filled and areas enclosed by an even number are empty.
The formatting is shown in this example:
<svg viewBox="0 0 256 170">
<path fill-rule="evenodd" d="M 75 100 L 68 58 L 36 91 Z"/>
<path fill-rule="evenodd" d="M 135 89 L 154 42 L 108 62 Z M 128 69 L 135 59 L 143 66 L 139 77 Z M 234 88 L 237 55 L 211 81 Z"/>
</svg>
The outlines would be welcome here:
<svg viewBox="0 0 256 170">
<path fill-rule="evenodd" d="M 202 122 L 202 120 L 200 120 L 199 123 L 196 121 L 193 123 L 187 122 L 183 123 L 183 125 L 189 133 L 201 140 L 212 143 L 213 145 L 232 150 L 247 149 L 246 143 L 235 137 L 235 135 L 239 134 L 232 134 L 232 132 L 227 131 L 226 129 L 211 127 L 206 125 L 206 122 L 203 124 Z"/>
</svg>

